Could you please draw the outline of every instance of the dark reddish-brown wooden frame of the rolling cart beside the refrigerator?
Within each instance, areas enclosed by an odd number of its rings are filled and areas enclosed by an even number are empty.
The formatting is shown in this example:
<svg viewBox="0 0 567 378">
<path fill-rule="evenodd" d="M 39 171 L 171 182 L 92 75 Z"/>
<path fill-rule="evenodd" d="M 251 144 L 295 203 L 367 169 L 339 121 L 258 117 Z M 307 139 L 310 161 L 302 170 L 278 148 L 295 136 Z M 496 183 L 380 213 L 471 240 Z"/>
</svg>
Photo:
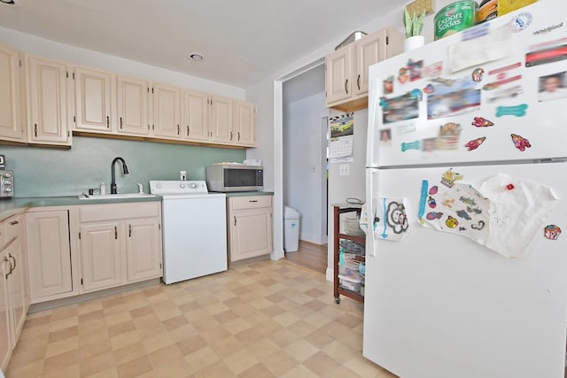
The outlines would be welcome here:
<svg viewBox="0 0 567 378">
<path fill-rule="evenodd" d="M 361 293 L 358 293 L 353 290 L 345 289 L 339 286 L 339 279 L 338 279 L 338 260 L 339 260 L 339 250 L 340 250 L 340 240 L 351 240 L 356 243 L 366 244 L 366 237 L 365 236 L 358 236 L 358 235 L 348 235 L 339 232 L 340 228 L 340 214 L 345 212 L 356 212 L 358 215 L 361 213 L 360 207 L 340 207 L 340 206 L 333 206 L 333 221 L 334 221 L 334 245 L 333 245 L 333 294 L 335 297 L 335 303 L 340 303 L 340 296 L 349 297 L 355 301 L 364 303 L 364 296 Z M 357 256 L 356 258 L 359 261 L 364 261 L 364 256 Z"/>
</svg>

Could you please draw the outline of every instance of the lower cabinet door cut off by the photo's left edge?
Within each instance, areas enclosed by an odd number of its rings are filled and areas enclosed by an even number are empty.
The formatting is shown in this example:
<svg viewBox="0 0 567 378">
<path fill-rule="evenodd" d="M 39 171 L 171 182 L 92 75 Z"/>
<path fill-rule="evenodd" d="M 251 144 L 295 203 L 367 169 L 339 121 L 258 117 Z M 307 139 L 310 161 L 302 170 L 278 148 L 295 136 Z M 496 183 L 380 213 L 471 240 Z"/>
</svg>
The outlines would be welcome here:
<svg viewBox="0 0 567 378">
<path fill-rule="evenodd" d="M 11 263 L 7 251 L 0 251 L 0 368 L 6 370 L 8 361 L 12 355 L 12 301 L 8 295 L 8 277 L 10 276 Z"/>
</svg>

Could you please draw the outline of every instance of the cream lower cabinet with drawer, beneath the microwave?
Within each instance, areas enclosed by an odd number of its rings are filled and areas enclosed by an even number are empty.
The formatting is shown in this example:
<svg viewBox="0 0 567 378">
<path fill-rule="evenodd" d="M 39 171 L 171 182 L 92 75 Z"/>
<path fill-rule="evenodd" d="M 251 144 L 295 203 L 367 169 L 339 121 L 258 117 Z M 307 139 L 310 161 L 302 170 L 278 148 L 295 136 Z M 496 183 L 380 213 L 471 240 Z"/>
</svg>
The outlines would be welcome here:
<svg viewBox="0 0 567 378">
<path fill-rule="evenodd" d="M 267 255 L 272 247 L 272 196 L 228 198 L 230 261 Z"/>
</svg>

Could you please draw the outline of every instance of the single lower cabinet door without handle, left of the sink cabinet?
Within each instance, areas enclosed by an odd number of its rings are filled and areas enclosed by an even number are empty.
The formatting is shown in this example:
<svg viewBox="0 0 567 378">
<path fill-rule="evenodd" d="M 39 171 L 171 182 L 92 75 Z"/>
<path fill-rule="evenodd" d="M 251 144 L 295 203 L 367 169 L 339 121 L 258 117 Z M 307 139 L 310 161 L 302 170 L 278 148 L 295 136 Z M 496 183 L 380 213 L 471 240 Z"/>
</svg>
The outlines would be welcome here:
<svg viewBox="0 0 567 378">
<path fill-rule="evenodd" d="M 73 291 L 68 212 L 27 212 L 26 224 L 32 303 Z"/>
</svg>

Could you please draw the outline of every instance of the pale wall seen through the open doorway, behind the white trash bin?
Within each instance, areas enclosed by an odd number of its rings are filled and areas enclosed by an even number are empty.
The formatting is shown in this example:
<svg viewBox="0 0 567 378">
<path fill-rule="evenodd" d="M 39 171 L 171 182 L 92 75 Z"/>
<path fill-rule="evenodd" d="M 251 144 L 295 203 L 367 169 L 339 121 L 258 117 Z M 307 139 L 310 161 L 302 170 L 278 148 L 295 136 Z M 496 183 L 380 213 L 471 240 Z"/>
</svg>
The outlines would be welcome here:
<svg viewBox="0 0 567 378">
<path fill-rule="evenodd" d="M 283 106 L 283 204 L 301 214 L 299 239 L 326 243 L 322 233 L 322 117 L 328 117 L 325 93 Z"/>
</svg>

